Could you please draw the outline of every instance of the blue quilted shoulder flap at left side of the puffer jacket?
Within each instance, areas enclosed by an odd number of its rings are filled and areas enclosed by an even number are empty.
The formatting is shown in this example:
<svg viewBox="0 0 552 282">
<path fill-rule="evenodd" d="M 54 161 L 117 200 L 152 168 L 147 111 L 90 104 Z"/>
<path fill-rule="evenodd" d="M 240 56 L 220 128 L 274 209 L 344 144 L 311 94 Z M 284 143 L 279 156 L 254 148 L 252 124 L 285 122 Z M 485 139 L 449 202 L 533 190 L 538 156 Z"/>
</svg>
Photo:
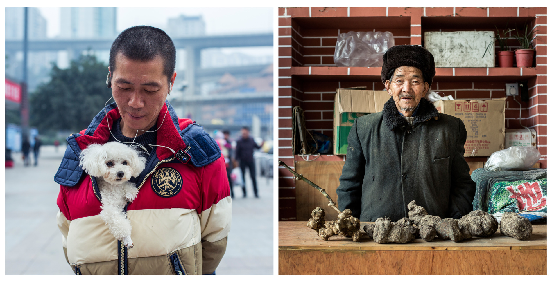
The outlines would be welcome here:
<svg viewBox="0 0 552 282">
<path fill-rule="evenodd" d="M 65 155 L 61 160 L 59 169 L 57 169 L 54 181 L 60 185 L 73 187 L 77 185 L 78 181 L 84 173 L 84 170 L 79 166 L 79 155 L 81 155 L 81 148 L 75 140 L 76 137 L 81 134 L 73 134 L 67 138 L 67 149 L 65 149 Z"/>
</svg>

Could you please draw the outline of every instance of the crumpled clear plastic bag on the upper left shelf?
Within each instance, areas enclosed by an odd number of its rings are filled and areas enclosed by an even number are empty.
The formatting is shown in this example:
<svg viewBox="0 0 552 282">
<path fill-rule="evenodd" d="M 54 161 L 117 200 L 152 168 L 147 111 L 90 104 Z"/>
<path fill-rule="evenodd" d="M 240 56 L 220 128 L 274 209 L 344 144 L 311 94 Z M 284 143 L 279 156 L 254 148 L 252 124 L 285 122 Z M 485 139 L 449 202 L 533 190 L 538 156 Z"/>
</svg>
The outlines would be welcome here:
<svg viewBox="0 0 552 282">
<path fill-rule="evenodd" d="M 337 36 L 333 62 L 338 67 L 381 67 L 383 55 L 395 46 L 389 31 L 349 31 Z"/>
</svg>

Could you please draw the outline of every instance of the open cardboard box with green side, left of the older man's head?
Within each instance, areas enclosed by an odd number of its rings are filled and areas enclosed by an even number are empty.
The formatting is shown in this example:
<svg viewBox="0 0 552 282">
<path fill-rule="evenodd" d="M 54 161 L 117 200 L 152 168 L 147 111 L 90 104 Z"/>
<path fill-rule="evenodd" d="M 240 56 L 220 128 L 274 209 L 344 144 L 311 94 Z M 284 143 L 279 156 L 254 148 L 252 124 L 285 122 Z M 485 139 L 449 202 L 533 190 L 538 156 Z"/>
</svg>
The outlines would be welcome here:
<svg viewBox="0 0 552 282">
<path fill-rule="evenodd" d="M 363 87 L 365 89 L 365 87 Z M 387 91 L 373 91 L 359 88 L 336 90 L 333 104 L 333 154 L 347 154 L 347 137 L 354 119 L 368 113 L 383 111 L 383 105 L 390 96 Z"/>
</svg>

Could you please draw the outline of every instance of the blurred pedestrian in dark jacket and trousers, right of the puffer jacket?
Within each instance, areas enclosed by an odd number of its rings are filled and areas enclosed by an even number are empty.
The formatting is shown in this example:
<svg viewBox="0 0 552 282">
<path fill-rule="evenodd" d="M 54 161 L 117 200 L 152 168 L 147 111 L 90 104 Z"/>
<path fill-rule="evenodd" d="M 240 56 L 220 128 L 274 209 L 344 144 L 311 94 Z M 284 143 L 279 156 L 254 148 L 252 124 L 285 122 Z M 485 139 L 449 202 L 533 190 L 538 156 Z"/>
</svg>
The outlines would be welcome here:
<svg viewBox="0 0 552 282">
<path fill-rule="evenodd" d="M 242 138 L 236 142 L 236 160 L 240 161 L 240 169 L 242 171 L 243 179 L 243 198 L 246 197 L 245 190 L 245 168 L 249 167 L 249 174 L 251 175 L 251 180 L 253 181 L 253 192 L 255 193 L 255 198 L 258 198 L 257 193 L 257 181 L 255 180 L 255 161 L 253 160 L 253 149 L 260 149 L 262 147 L 255 143 L 253 137 L 249 135 L 249 128 L 244 126 L 241 129 Z"/>
</svg>

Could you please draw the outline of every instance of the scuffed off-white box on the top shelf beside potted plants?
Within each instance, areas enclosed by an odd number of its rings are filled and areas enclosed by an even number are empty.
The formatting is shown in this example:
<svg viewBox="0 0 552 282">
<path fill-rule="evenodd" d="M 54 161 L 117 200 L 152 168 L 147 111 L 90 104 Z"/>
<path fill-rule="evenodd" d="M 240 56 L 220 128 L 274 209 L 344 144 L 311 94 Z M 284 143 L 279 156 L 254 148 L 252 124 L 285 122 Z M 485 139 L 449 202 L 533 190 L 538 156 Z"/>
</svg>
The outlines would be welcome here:
<svg viewBox="0 0 552 282">
<path fill-rule="evenodd" d="M 494 31 L 427 31 L 424 47 L 432 53 L 437 68 L 495 67 Z M 491 43 L 485 57 L 483 54 Z"/>
</svg>

